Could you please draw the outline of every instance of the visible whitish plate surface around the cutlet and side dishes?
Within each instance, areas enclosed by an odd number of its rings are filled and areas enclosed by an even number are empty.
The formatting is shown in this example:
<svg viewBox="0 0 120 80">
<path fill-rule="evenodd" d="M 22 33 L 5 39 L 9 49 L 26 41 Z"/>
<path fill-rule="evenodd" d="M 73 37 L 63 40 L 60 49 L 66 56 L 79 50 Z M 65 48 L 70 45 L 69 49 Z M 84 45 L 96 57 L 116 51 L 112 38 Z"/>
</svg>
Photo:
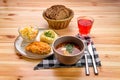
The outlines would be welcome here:
<svg viewBox="0 0 120 80">
<path fill-rule="evenodd" d="M 40 35 L 41 33 L 43 32 L 44 30 L 39 30 L 39 33 L 38 33 L 38 36 L 36 38 L 36 41 L 40 41 Z M 25 51 L 25 46 L 27 46 L 29 43 L 23 41 L 22 37 L 18 36 L 15 40 L 15 48 L 16 50 L 24 57 L 27 57 L 27 58 L 31 58 L 31 59 L 42 59 L 42 58 L 46 58 L 50 55 L 53 54 L 53 50 L 51 48 L 51 52 L 49 54 L 46 54 L 46 55 L 38 55 L 38 54 L 33 54 L 31 52 L 26 52 Z"/>
</svg>

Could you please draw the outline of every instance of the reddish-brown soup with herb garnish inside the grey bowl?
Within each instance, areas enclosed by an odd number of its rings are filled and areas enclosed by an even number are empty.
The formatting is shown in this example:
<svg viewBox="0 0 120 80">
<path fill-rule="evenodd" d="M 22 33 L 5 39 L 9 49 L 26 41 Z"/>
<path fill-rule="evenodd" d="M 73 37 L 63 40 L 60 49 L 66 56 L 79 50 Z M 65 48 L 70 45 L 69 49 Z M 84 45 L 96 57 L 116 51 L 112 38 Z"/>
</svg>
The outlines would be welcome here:
<svg viewBox="0 0 120 80">
<path fill-rule="evenodd" d="M 80 52 L 80 47 L 72 42 L 63 42 L 56 46 L 56 50 L 63 55 L 74 55 Z"/>
</svg>

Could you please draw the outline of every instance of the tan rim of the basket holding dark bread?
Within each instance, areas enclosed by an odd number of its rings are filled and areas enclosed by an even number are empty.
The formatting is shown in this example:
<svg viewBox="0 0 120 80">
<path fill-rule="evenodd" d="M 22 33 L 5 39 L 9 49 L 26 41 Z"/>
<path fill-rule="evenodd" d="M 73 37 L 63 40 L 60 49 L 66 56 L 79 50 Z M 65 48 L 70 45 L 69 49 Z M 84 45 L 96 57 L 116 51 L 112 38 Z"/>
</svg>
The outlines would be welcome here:
<svg viewBox="0 0 120 80">
<path fill-rule="evenodd" d="M 69 11 L 71 11 L 71 14 L 70 14 L 70 16 L 68 17 L 68 18 L 65 18 L 65 19 L 60 19 L 60 20 L 54 20 L 54 19 L 49 19 L 48 17 L 46 17 L 45 16 L 45 12 L 46 12 L 46 10 L 45 11 L 43 11 L 43 17 L 44 17 L 44 19 L 46 19 L 46 20 L 49 20 L 49 21 L 66 21 L 66 20 L 70 20 L 70 19 L 72 19 L 73 17 L 74 17 L 74 12 L 73 12 L 73 10 L 72 9 L 70 9 L 70 8 L 67 8 Z"/>
</svg>

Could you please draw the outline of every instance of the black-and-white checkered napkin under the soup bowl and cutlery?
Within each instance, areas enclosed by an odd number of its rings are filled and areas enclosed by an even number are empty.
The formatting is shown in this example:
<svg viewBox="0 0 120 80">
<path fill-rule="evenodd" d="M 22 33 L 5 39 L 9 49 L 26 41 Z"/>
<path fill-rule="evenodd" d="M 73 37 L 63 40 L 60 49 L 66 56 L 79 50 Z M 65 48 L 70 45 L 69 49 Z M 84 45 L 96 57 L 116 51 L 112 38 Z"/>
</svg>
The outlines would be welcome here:
<svg viewBox="0 0 120 80">
<path fill-rule="evenodd" d="M 76 36 L 78 38 L 81 38 L 79 34 Z M 99 56 L 98 56 L 98 53 L 96 52 L 96 48 L 93 44 L 93 41 L 91 40 L 90 37 L 84 37 L 84 40 L 91 41 L 96 65 L 101 66 L 101 62 L 99 60 Z M 85 50 L 84 53 L 88 53 L 88 51 Z M 90 54 L 87 54 L 87 57 L 88 57 L 88 65 L 93 66 Z M 34 70 L 50 69 L 50 68 L 84 67 L 84 66 L 85 66 L 85 57 L 84 56 L 76 64 L 68 66 L 68 65 L 64 65 L 64 64 L 59 63 L 59 61 L 55 58 L 55 56 L 53 54 L 53 55 L 43 59 L 39 64 L 37 64 L 34 67 Z"/>
</svg>

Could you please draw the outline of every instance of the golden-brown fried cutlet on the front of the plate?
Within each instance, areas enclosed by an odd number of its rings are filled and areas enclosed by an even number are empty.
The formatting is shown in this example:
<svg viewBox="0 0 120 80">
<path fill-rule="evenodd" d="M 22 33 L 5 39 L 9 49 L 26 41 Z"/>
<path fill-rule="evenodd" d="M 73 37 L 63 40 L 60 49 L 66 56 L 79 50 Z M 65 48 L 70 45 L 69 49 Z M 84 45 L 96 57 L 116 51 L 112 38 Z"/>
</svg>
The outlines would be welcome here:
<svg viewBox="0 0 120 80">
<path fill-rule="evenodd" d="M 49 54 L 51 51 L 51 47 L 49 44 L 45 43 L 45 42 L 32 42 L 30 44 L 28 44 L 25 47 L 25 50 L 28 52 L 32 52 L 35 54 L 40 54 L 40 55 L 44 55 L 44 54 Z"/>
</svg>

